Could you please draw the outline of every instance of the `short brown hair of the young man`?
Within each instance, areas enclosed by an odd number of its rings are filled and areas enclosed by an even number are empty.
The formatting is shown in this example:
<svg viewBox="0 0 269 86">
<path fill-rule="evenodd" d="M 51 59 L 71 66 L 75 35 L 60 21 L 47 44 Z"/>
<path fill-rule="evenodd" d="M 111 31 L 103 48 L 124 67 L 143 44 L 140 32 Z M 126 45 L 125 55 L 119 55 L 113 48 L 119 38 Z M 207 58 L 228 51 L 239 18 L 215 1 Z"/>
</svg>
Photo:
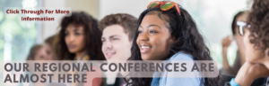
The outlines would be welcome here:
<svg viewBox="0 0 269 86">
<path fill-rule="evenodd" d="M 126 13 L 110 14 L 100 20 L 99 28 L 103 31 L 111 25 L 120 25 L 129 36 L 129 41 L 134 39 L 135 27 L 137 27 L 137 19 L 134 16 Z"/>
</svg>

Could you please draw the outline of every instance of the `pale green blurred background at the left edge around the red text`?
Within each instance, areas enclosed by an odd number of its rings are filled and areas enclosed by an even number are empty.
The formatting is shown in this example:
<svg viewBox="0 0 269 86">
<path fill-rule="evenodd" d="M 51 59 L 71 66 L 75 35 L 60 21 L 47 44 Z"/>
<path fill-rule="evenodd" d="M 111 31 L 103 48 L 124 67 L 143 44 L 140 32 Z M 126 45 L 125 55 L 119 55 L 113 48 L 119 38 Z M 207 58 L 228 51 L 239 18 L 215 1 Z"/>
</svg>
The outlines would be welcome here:
<svg viewBox="0 0 269 86">
<path fill-rule="evenodd" d="M 6 15 L 4 12 L 5 7 L 27 7 L 27 2 L 37 1 L 0 0 L 0 61 L 25 60 L 30 47 L 36 43 L 35 22 L 21 22 L 22 15 Z"/>
</svg>

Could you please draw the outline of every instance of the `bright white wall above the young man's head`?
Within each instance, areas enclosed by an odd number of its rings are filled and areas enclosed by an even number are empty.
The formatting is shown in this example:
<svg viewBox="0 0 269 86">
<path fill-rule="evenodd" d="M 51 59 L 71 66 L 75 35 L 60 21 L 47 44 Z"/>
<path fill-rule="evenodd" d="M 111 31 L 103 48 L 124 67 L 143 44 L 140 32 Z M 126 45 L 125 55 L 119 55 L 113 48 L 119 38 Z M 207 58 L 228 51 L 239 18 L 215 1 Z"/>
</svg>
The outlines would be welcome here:
<svg viewBox="0 0 269 86">
<path fill-rule="evenodd" d="M 156 0 L 100 0 L 100 18 L 111 13 L 128 13 L 138 18 L 148 4 Z M 170 0 L 180 3 L 181 0 Z"/>
</svg>

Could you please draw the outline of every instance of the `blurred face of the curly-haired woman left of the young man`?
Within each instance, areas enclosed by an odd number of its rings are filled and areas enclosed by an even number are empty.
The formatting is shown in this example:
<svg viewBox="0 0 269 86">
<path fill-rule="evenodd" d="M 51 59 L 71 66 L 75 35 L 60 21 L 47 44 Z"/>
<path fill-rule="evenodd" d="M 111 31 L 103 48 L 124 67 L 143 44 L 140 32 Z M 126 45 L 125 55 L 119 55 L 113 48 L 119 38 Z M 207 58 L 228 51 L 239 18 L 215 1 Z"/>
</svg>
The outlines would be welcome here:
<svg viewBox="0 0 269 86">
<path fill-rule="evenodd" d="M 82 26 L 69 24 L 65 29 L 65 43 L 71 53 L 85 51 L 84 30 Z"/>
</svg>

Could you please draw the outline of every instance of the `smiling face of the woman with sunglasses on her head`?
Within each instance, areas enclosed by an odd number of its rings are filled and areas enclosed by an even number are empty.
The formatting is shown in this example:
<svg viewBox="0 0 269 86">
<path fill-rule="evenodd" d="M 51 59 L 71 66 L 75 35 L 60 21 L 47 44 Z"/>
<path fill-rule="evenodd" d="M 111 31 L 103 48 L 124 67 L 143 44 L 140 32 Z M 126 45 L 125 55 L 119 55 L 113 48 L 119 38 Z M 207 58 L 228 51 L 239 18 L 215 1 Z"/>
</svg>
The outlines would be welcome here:
<svg viewBox="0 0 269 86">
<path fill-rule="evenodd" d="M 139 28 L 138 44 L 143 60 L 164 60 L 169 58 L 169 46 L 174 43 L 167 22 L 157 14 L 144 16 Z"/>
</svg>

